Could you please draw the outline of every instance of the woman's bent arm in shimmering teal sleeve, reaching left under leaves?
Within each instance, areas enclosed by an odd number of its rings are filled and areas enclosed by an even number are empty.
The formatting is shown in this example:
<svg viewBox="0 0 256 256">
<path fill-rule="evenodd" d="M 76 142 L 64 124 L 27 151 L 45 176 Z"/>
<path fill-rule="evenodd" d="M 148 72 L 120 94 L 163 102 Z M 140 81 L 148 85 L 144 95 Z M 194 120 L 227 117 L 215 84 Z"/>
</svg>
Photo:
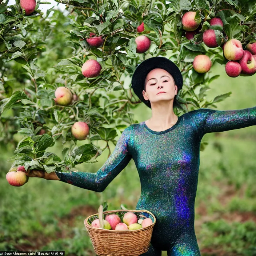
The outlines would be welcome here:
<svg viewBox="0 0 256 256">
<path fill-rule="evenodd" d="M 75 185 L 80 188 L 102 192 L 109 183 L 127 166 L 132 159 L 133 125 L 125 128 L 113 153 L 109 156 L 104 165 L 96 172 L 57 172 L 60 181 Z"/>
</svg>

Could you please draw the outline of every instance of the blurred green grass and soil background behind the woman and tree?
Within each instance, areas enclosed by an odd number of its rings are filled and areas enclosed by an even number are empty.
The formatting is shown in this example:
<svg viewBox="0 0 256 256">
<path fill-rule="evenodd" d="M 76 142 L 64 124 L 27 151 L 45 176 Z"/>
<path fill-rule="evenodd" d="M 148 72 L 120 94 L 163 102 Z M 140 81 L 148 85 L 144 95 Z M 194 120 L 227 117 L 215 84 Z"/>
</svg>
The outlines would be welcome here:
<svg viewBox="0 0 256 256">
<path fill-rule="evenodd" d="M 13 4 L 11 0 L 9 4 Z M 46 11 L 57 3 L 42 5 Z M 61 29 L 61 19 L 66 15 L 65 5 L 58 4 L 56 14 Z M 68 13 L 68 12 L 67 12 Z M 57 16 L 58 15 L 58 16 Z M 63 47 L 56 38 L 43 52 L 40 68 L 47 71 L 71 51 Z M 59 49 L 63 49 L 60 51 Z M 59 52 L 60 51 L 60 52 Z M 17 76 L 19 65 L 14 61 Z M 254 107 L 256 105 L 256 76 L 231 78 L 225 73 L 224 65 L 215 63 L 211 75 L 220 77 L 211 83 L 208 99 L 232 92 L 231 96 L 217 103 L 218 110 Z M 18 86 L 18 85 L 17 85 Z M 139 122 L 151 117 L 151 109 L 143 103 L 134 110 Z M 4 116 L 12 116 L 10 109 Z M 118 139 L 118 138 L 116 138 Z M 19 141 L 19 138 L 17 138 Z M 256 255 L 256 128 L 255 125 L 232 131 L 207 133 L 207 141 L 200 152 L 200 169 L 195 201 L 195 232 L 203 256 L 253 256 Z M 68 145 L 56 141 L 48 148 L 61 157 L 62 149 Z M 84 141 L 78 141 L 78 145 Z M 101 147 L 105 144 L 102 142 Z M 111 144 L 111 152 L 115 148 Z M 13 155 L 11 145 L 0 148 L 0 251 L 65 251 L 69 256 L 94 256 L 91 240 L 84 226 L 84 220 L 97 213 L 98 207 L 107 201 L 108 210 L 120 209 L 121 204 L 135 209 L 140 197 L 139 175 L 133 160 L 102 192 L 94 192 L 61 181 L 29 178 L 22 187 L 8 184 L 5 175 L 11 167 L 8 158 Z M 77 165 L 77 170 L 97 172 L 108 156 L 105 150 L 94 164 Z M 163 252 L 162 255 L 167 255 Z"/>
</svg>

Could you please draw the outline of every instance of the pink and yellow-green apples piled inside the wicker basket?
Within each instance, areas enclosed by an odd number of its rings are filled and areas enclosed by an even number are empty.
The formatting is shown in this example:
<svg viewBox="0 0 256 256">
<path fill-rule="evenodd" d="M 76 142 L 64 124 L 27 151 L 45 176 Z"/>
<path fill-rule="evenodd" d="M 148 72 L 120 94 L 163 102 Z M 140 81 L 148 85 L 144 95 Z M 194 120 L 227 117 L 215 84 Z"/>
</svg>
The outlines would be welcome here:
<svg viewBox="0 0 256 256">
<path fill-rule="evenodd" d="M 110 214 L 103 219 L 104 229 L 111 230 L 135 230 L 145 228 L 151 225 L 153 221 L 150 218 L 141 217 L 138 219 L 137 215 L 133 212 L 124 214 L 123 222 L 117 214 Z M 100 228 L 100 220 L 95 219 L 92 221 L 92 227 Z"/>
</svg>

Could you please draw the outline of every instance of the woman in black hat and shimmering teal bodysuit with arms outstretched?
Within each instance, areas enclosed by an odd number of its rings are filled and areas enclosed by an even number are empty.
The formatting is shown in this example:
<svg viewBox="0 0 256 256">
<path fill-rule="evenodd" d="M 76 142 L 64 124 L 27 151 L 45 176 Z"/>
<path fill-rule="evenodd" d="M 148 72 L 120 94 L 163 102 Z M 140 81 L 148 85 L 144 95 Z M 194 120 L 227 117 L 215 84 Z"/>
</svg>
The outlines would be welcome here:
<svg viewBox="0 0 256 256">
<path fill-rule="evenodd" d="M 133 74 L 132 88 L 152 109 L 152 117 L 123 131 L 97 173 L 45 173 L 46 179 L 102 192 L 133 158 L 141 181 L 136 210 L 146 209 L 156 217 L 151 244 L 143 256 L 158 256 L 161 251 L 168 256 L 200 255 L 194 229 L 200 141 L 205 133 L 256 125 L 256 107 L 200 108 L 176 116 L 173 105 L 182 85 L 181 72 L 172 61 L 165 57 L 143 61 Z"/>
</svg>

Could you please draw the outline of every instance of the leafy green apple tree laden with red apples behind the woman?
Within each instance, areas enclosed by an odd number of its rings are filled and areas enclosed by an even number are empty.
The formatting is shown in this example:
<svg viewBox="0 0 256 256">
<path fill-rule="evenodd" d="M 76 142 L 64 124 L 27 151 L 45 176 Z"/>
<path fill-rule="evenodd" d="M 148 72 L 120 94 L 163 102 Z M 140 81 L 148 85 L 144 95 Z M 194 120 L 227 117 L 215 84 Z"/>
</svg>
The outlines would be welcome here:
<svg viewBox="0 0 256 256">
<path fill-rule="evenodd" d="M 109 141 L 138 122 L 131 77 L 149 57 L 168 57 L 183 75 L 177 115 L 230 96 L 206 97 L 215 62 L 231 77 L 256 73 L 253 1 L 56 0 L 68 16 L 50 9 L 46 17 L 41 0 L 0 2 L 1 145 L 15 145 L 12 167 L 67 172 L 106 148 L 110 155 Z M 56 140 L 63 160 L 46 151 Z"/>
</svg>

